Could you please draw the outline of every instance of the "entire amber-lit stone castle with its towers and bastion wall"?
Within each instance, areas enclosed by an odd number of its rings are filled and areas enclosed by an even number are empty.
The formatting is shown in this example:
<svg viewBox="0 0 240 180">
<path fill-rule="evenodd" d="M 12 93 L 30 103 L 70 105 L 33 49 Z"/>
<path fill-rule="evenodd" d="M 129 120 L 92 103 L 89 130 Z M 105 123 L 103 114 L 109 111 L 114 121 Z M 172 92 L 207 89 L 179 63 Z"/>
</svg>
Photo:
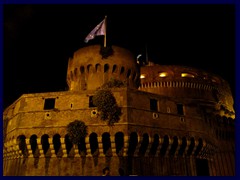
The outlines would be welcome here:
<svg viewBox="0 0 240 180">
<path fill-rule="evenodd" d="M 137 176 L 235 175 L 234 101 L 224 79 L 140 66 L 118 46 L 104 58 L 100 52 L 91 45 L 74 53 L 67 91 L 23 94 L 4 110 L 3 175 L 101 176 L 105 167 L 112 176 L 119 168 Z"/>
</svg>

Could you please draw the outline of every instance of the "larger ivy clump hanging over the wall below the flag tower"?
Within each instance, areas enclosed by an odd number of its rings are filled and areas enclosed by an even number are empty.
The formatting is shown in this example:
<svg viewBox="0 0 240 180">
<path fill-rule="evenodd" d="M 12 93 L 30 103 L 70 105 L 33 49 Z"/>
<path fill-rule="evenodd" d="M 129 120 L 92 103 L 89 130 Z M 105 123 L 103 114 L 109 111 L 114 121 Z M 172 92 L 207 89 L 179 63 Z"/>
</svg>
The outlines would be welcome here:
<svg viewBox="0 0 240 180">
<path fill-rule="evenodd" d="M 122 81 L 111 79 L 109 82 L 103 84 L 93 96 L 93 104 L 97 106 L 100 112 L 100 118 L 106 121 L 110 126 L 118 122 L 122 115 L 121 108 L 118 107 L 111 88 L 120 88 L 124 86 L 126 85 Z"/>
</svg>

